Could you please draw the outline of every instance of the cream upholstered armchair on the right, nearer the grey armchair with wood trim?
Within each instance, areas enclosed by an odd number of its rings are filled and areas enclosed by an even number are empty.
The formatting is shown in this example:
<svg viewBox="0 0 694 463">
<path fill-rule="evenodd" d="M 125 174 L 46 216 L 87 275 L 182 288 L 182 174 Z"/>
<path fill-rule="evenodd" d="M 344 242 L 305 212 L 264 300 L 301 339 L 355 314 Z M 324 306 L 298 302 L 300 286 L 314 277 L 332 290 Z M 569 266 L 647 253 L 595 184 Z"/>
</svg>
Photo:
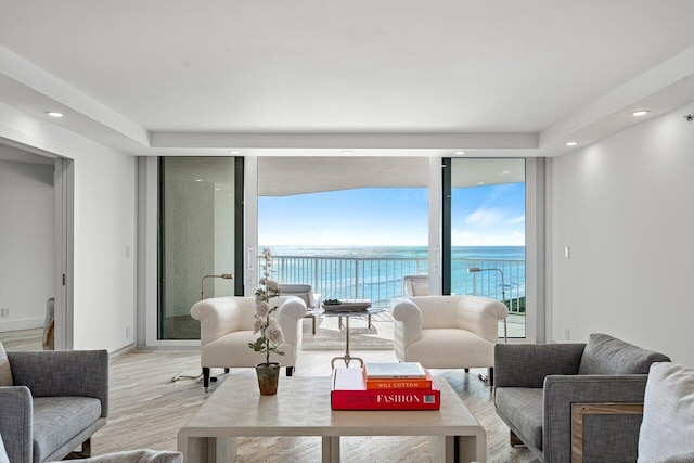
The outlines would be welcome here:
<svg viewBox="0 0 694 463">
<path fill-rule="evenodd" d="M 489 368 L 493 383 L 499 320 L 509 308 L 476 296 L 400 297 L 390 303 L 395 353 L 432 369 Z"/>
</svg>

